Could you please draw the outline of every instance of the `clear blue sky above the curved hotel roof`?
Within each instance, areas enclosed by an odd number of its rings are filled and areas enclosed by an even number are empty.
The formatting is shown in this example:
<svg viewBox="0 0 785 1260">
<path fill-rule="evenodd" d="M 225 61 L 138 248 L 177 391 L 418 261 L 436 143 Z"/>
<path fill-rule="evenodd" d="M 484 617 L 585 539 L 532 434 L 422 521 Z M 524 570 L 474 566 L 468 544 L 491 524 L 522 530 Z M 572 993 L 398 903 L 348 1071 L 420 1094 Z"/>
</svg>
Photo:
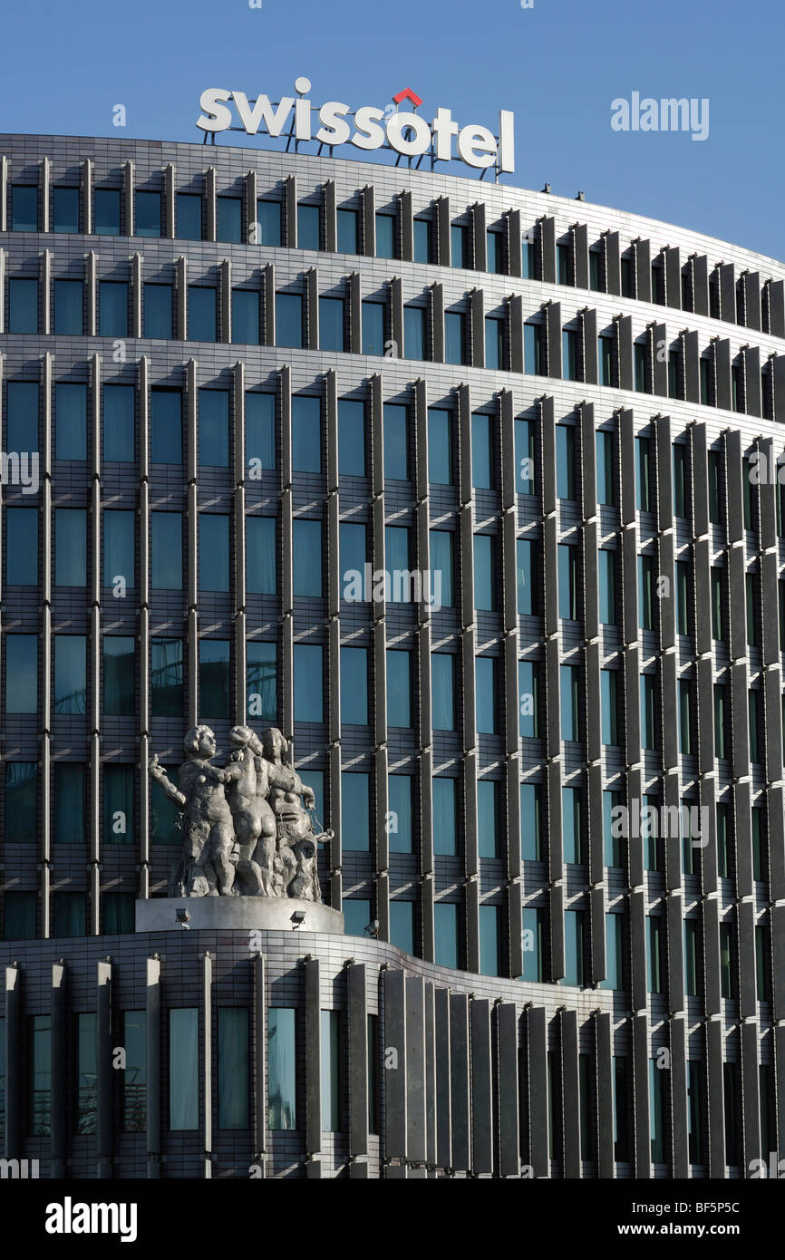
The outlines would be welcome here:
<svg viewBox="0 0 785 1260">
<path fill-rule="evenodd" d="M 277 100 L 306 74 L 315 105 L 353 107 L 412 87 L 426 117 L 441 105 L 495 129 L 500 108 L 515 112 L 507 183 L 583 189 L 785 258 L 776 0 L 534 0 L 525 10 L 520 0 L 43 0 L 6 6 L 3 26 L 1 131 L 198 141 L 205 87 Z M 611 101 L 634 91 L 708 97 L 708 139 L 612 131 Z M 116 103 L 125 130 L 112 126 Z"/>
</svg>

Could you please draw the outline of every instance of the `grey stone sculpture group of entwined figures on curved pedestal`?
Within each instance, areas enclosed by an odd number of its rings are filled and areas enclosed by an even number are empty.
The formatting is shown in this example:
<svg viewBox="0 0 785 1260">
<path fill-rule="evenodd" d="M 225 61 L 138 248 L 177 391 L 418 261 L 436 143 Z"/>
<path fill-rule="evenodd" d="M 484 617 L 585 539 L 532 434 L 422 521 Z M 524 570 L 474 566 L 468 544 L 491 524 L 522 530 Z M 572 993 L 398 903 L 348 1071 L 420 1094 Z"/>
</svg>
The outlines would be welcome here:
<svg viewBox="0 0 785 1260">
<path fill-rule="evenodd" d="M 218 759 L 209 726 L 193 727 L 179 788 L 158 756 L 150 761 L 150 775 L 181 810 L 170 896 L 321 901 L 318 845 L 333 833 L 314 832 L 314 793 L 286 760 L 287 741 L 275 727 L 260 738 L 236 726 L 229 742 L 232 752 Z"/>
</svg>

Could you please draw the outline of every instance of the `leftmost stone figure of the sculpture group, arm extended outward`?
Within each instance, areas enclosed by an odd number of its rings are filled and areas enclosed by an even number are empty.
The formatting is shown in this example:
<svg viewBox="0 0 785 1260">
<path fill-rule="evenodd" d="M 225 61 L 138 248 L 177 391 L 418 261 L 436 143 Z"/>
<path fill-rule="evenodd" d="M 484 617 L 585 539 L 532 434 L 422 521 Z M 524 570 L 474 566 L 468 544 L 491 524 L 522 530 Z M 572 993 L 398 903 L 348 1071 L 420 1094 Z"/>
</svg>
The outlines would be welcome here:
<svg viewBox="0 0 785 1260">
<path fill-rule="evenodd" d="M 231 775 L 212 762 L 215 736 L 209 726 L 194 726 L 183 741 L 186 760 L 180 766 L 180 788 L 169 780 L 158 756 L 150 775 L 169 800 L 183 809 L 180 879 L 185 896 L 229 896 L 234 883 L 234 827 L 224 786 Z"/>
</svg>

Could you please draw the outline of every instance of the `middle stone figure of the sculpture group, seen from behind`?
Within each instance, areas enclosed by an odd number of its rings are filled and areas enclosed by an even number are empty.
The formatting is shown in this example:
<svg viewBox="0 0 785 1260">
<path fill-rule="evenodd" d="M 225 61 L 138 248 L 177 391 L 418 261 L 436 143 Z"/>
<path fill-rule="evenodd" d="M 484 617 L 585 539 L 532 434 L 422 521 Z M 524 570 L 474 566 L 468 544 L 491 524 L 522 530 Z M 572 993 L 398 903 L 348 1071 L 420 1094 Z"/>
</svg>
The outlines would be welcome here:
<svg viewBox="0 0 785 1260">
<path fill-rule="evenodd" d="M 248 726 L 229 731 L 233 752 L 226 766 L 227 796 L 239 845 L 236 891 L 258 897 L 272 895 L 277 823 L 267 803 L 268 766 L 258 736 Z"/>
</svg>

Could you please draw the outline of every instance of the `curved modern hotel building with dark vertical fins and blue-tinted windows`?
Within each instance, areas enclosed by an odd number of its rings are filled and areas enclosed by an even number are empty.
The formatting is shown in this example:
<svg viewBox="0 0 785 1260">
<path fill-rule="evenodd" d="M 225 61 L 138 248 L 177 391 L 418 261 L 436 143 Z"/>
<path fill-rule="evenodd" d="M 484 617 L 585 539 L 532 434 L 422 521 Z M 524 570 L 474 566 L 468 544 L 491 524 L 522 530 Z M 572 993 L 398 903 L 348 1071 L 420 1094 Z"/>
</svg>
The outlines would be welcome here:
<svg viewBox="0 0 785 1260">
<path fill-rule="evenodd" d="M 782 1150 L 785 267 L 402 165 L 0 155 L 6 1158 Z M 292 741 L 344 936 L 135 931 L 197 722 Z"/>
</svg>

